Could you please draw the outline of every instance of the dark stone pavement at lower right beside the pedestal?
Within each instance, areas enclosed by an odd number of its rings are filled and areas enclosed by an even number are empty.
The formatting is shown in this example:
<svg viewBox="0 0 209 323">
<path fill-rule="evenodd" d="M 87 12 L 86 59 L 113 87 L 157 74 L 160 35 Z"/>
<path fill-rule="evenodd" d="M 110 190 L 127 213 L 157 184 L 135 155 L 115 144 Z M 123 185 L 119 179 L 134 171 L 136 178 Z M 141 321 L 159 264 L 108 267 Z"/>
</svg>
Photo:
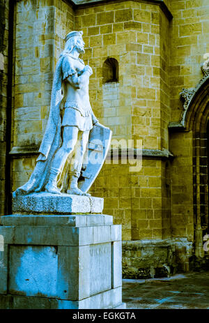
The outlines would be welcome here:
<svg viewBox="0 0 209 323">
<path fill-rule="evenodd" d="M 123 279 L 123 302 L 130 309 L 209 309 L 209 271 Z"/>
</svg>

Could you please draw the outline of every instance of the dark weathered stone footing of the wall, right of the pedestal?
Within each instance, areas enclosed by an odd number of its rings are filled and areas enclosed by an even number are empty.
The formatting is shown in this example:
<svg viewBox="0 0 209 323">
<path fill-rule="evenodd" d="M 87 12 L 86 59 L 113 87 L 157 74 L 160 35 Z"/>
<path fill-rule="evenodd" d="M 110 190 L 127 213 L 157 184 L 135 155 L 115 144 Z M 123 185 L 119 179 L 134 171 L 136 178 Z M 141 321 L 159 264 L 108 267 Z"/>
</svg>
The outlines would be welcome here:
<svg viewBox="0 0 209 323">
<path fill-rule="evenodd" d="M 185 238 L 123 241 L 123 278 L 169 277 L 187 271 L 192 242 Z"/>
</svg>

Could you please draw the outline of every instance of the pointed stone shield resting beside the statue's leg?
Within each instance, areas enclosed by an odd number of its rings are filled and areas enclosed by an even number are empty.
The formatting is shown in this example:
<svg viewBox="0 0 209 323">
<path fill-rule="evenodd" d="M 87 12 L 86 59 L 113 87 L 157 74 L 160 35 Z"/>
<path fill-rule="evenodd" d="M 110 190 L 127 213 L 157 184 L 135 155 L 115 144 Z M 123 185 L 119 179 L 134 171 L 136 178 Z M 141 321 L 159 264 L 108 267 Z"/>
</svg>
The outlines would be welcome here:
<svg viewBox="0 0 209 323">
<path fill-rule="evenodd" d="M 93 126 L 89 133 L 88 147 L 84 155 L 82 172 L 78 187 L 84 193 L 91 188 L 107 156 L 111 142 L 111 130 L 100 123 Z"/>
</svg>

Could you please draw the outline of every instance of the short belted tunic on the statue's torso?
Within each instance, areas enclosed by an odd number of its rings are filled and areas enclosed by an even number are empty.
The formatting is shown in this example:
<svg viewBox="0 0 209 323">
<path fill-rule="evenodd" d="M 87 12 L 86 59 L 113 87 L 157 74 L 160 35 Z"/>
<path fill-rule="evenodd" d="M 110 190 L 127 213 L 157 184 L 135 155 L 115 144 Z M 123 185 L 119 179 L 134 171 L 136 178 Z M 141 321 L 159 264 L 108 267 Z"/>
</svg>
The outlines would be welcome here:
<svg viewBox="0 0 209 323">
<path fill-rule="evenodd" d="M 98 120 L 95 118 L 88 96 L 88 83 L 85 81 L 74 87 L 68 81 L 68 77 L 77 73 L 84 73 L 84 61 L 75 59 L 70 54 L 65 55 L 62 63 L 63 83 L 65 87 L 65 97 L 63 98 L 64 114 L 61 126 L 77 126 L 81 131 L 91 130 L 93 123 Z"/>
</svg>

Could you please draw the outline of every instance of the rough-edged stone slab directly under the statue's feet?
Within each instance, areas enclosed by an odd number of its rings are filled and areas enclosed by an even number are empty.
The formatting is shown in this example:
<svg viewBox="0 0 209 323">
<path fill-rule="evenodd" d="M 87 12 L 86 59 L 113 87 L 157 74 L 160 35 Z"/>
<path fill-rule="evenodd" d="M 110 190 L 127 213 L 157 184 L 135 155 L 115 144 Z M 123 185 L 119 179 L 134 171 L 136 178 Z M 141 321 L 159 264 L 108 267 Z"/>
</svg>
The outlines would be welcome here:
<svg viewBox="0 0 209 323">
<path fill-rule="evenodd" d="M 102 213 L 103 199 L 46 192 L 13 197 L 13 212 L 24 213 Z"/>
</svg>

